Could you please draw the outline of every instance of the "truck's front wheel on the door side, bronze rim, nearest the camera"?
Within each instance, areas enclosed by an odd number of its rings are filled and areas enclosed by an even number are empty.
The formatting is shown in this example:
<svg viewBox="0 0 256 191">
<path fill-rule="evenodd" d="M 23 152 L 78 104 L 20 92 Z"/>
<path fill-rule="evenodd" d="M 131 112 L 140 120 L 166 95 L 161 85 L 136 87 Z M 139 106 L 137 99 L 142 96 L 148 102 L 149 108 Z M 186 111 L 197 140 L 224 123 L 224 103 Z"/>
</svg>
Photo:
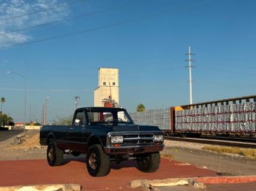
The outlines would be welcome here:
<svg viewBox="0 0 256 191">
<path fill-rule="evenodd" d="M 86 158 L 87 158 L 86 159 L 87 170 L 91 176 L 103 177 L 109 173 L 110 171 L 109 155 L 104 153 L 102 146 L 100 144 L 91 145 L 91 147 L 87 152 Z"/>
</svg>

